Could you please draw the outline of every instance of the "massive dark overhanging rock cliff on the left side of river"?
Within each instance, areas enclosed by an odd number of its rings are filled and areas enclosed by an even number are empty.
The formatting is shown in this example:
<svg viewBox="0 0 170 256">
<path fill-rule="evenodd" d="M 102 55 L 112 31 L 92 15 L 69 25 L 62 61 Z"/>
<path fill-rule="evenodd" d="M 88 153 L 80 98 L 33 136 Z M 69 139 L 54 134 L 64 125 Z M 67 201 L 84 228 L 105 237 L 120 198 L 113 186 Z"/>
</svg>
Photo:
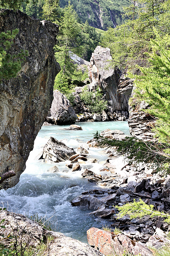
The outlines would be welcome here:
<svg viewBox="0 0 170 256">
<path fill-rule="evenodd" d="M 53 46 L 59 28 L 49 21 L 32 20 L 20 11 L 0 10 L 0 32 L 18 28 L 10 51 L 29 54 L 16 78 L 0 86 L 0 174 L 16 176 L 2 186 L 18 183 L 25 162 L 53 100 L 53 84 L 60 71 Z"/>
</svg>

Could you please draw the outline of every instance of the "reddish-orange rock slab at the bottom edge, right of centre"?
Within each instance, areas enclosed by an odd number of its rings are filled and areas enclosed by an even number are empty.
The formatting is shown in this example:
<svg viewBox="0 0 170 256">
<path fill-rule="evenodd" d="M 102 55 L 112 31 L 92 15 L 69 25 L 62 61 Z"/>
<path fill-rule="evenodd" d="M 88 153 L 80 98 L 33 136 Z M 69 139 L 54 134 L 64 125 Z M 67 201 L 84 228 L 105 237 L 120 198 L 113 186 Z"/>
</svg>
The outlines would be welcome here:
<svg viewBox="0 0 170 256">
<path fill-rule="evenodd" d="M 98 228 L 90 228 L 87 231 L 88 243 L 98 248 L 105 255 L 117 254 L 123 256 L 125 252 L 141 256 L 152 256 L 152 252 L 145 246 L 134 242 L 123 234 L 115 236 L 110 232 Z"/>
</svg>

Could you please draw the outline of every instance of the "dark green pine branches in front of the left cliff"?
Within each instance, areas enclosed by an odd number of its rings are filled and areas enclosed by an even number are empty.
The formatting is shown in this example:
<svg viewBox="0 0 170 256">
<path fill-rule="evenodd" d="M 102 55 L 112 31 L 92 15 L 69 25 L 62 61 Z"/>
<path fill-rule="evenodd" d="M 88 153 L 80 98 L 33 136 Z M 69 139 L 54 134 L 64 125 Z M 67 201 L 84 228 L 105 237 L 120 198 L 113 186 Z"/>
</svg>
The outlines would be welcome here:
<svg viewBox="0 0 170 256">
<path fill-rule="evenodd" d="M 0 33 L 0 80 L 10 79 L 17 76 L 21 70 L 21 61 L 25 59 L 27 51 L 21 50 L 18 54 L 11 55 L 8 50 L 11 48 L 18 29 Z"/>
</svg>

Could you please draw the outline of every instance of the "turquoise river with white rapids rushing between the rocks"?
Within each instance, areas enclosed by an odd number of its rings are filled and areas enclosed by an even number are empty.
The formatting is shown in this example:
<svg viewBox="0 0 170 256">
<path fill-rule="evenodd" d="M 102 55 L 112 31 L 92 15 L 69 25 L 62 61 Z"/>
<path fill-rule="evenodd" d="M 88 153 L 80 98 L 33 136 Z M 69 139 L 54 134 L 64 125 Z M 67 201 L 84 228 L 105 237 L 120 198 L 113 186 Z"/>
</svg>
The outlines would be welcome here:
<svg viewBox="0 0 170 256">
<path fill-rule="evenodd" d="M 88 168 L 97 174 L 104 174 L 99 170 L 108 158 L 102 149 L 89 148 L 90 158 L 96 158 L 97 163 L 82 164 L 80 171 L 72 172 L 66 167 L 66 162 L 49 164 L 42 160 L 35 160 L 50 136 L 62 140 L 67 146 L 76 148 L 87 147 L 86 142 L 93 138 L 93 134 L 109 128 L 122 130 L 129 135 L 127 122 L 82 122 L 78 123 L 83 130 L 64 130 L 69 126 L 42 126 L 39 131 L 33 151 L 26 162 L 26 169 L 20 176 L 20 182 L 8 190 L 1 190 L 0 201 L 9 211 L 26 214 L 27 216 L 45 216 L 50 219 L 54 231 L 62 232 L 66 236 L 87 242 L 86 231 L 92 226 L 102 228 L 107 220 L 88 215 L 88 210 L 80 210 L 78 206 L 71 206 L 71 201 L 80 193 L 94 189 L 96 184 L 88 183 L 81 176 Z M 57 165 L 59 172 L 49 173 L 47 170 Z M 107 173 L 108 174 L 108 173 Z"/>
</svg>

